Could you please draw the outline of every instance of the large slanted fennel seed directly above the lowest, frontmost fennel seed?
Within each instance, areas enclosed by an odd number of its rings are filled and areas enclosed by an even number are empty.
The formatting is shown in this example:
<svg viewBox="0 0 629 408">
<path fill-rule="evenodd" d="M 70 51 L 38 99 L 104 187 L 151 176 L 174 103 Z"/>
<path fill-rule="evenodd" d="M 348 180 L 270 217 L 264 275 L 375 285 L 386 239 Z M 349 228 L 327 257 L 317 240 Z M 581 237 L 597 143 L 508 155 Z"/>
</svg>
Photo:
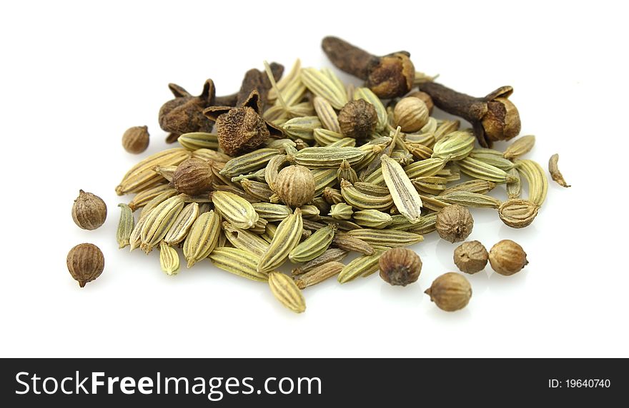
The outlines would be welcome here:
<svg viewBox="0 0 629 408">
<path fill-rule="evenodd" d="M 275 235 L 269 244 L 267 252 L 260 257 L 257 270 L 270 272 L 284 263 L 288 254 L 299 244 L 302 238 L 303 220 L 299 208 L 282 220 L 277 226 Z"/>
</svg>

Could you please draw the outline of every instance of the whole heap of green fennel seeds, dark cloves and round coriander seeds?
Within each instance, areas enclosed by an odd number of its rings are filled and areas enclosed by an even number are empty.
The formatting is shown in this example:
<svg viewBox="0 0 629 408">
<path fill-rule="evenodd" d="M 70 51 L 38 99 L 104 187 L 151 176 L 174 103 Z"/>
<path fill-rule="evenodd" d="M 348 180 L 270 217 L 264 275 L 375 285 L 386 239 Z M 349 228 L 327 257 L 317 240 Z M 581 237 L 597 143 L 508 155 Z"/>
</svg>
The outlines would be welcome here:
<svg viewBox="0 0 629 408">
<path fill-rule="evenodd" d="M 119 205 L 119 247 L 158 249 L 168 275 L 179 272 L 180 253 L 188 267 L 209 260 L 267 282 L 284 306 L 304 312 L 302 290 L 334 276 L 346 283 L 380 270 L 390 285 L 417 281 L 422 260 L 402 247 L 433 231 L 450 243 L 465 240 L 474 226 L 468 208 L 495 211 L 512 228 L 533 222 L 548 190 L 541 166 L 522 158 L 535 138 L 492 148 L 520 133 L 510 86 L 473 98 L 415 71 L 406 51 L 374 56 L 335 37 L 323 39 L 322 49 L 364 85 L 299 60 L 284 76 L 278 63 L 247 71 L 229 96 L 217 97 L 209 79 L 200 96 L 170 84 L 174 99 L 159 111 L 159 125 L 179 146 L 144 158 L 117 186 L 119 195 L 135 194 Z M 435 106 L 471 128 L 432 117 Z M 147 128 L 129 128 L 123 145 L 144 151 Z M 550 173 L 566 186 L 557 161 L 550 159 Z M 499 186 L 504 199 L 487 195 Z M 342 262 L 351 252 L 358 256 Z M 466 273 L 489 261 L 502 275 L 528 263 L 509 240 L 489 253 L 477 241 L 463 243 L 454 261 Z M 287 262 L 291 274 L 279 271 Z M 86 262 L 83 272 L 72 265 L 83 285 L 102 262 Z M 426 293 L 454 311 L 472 288 L 448 272 Z"/>
</svg>

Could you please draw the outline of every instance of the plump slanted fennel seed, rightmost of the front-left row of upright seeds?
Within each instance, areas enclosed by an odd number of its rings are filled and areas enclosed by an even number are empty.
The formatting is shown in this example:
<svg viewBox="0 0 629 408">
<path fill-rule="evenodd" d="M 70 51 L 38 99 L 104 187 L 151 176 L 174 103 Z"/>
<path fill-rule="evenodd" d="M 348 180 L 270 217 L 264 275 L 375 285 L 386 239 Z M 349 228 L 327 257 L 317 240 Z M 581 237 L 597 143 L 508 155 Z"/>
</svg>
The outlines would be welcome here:
<svg viewBox="0 0 629 408">
<path fill-rule="evenodd" d="M 221 232 L 221 218 L 214 211 L 203 213 L 194 221 L 184 241 L 184 257 L 188 267 L 207 258 L 216 248 Z"/>
</svg>

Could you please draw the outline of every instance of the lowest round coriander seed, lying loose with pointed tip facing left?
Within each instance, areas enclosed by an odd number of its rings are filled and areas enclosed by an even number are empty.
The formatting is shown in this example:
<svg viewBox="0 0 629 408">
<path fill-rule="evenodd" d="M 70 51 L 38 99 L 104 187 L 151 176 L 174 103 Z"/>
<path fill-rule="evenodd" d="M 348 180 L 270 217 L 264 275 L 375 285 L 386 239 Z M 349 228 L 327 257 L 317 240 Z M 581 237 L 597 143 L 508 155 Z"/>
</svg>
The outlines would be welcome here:
<svg viewBox="0 0 629 408">
<path fill-rule="evenodd" d="M 424 292 L 435 305 L 446 312 L 455 312 L 467 306 L 472 297 L 472 286 L 460 273 L 447 272 L 437 277 Z"/>
</svg>

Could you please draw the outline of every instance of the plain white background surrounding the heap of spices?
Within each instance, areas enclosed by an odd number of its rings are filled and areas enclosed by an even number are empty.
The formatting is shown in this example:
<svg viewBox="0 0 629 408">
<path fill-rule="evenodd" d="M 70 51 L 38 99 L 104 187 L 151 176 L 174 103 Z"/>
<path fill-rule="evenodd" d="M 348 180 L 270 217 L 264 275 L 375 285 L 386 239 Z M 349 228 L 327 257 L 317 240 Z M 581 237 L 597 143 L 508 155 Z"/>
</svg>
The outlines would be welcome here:
<svg viewBox="0 0 629 408">
<path fill-rule="evenodd" d="M 3 173 L 0 355 L 6 356 L 612 356 L 629 357 L 626 40 L 622 2 L 19 1 L 0 6 Z M 157 112 L 167 83 L 198 94 L 239 88 L 262 61 L 330 66 L 336 34 L 373 53 L 406 49 L 418 70 L 482 96 L 512 85 L 528 157 L 560 153 L 573 187 L 550 182 L 535 223 L 502 225 L 474 210 L 470 239 L 520 243 L 530 265 L 512 277 L 470 277 L 460 312 L 423 291 L 455 270 L 454 244 L 433 233 L 414 247 L 420 280 L 377 275 L 304 291 L 294 315 L 267 285 L 201 262 L 168 277 L 158 253 L 118 250 L 114 193 L 137 160 L 165 147 Z M 348 76 L 342 76 L 347 81 Z M 126 153 L 129 126 L 149 150 Z M 503 148 L 505 145 L 499 145 Z M 79 188 L 109 206 L 104 227 L 70 217 Z M 498 189 L 497 189 L 498 190 Z M 104 252 L 84 289 L 66 270 L 74 245 Z"/>
</svg>

